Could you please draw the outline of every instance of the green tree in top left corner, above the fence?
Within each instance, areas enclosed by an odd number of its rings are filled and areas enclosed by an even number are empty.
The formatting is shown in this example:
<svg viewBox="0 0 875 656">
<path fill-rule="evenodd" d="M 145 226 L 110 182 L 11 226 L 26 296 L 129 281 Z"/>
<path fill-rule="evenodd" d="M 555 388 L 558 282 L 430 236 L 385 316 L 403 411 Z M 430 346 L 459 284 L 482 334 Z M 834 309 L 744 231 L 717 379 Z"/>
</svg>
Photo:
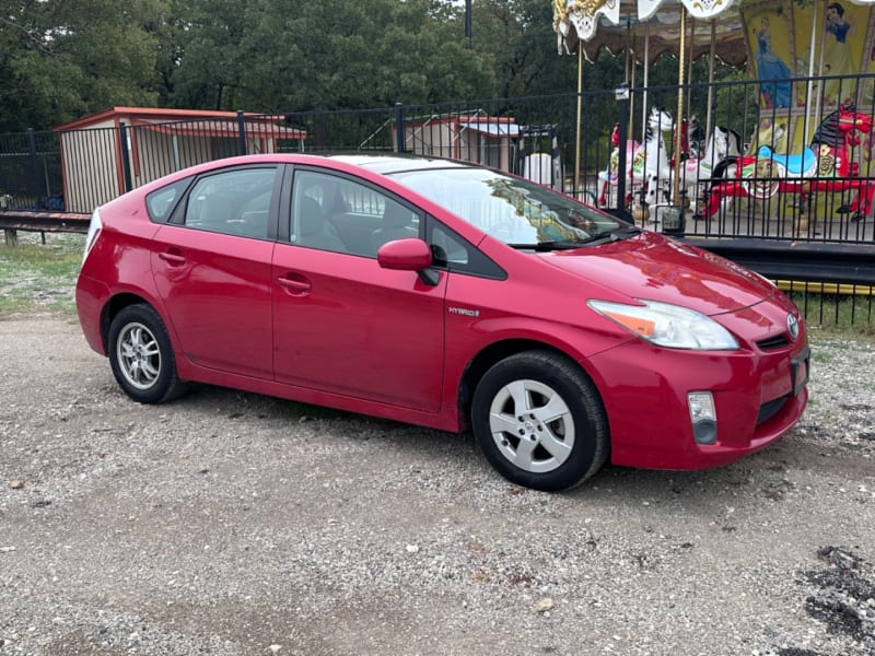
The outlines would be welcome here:
<svg viewBox="0 0 875 656">
<path fill-rule="evenodd" d="M 0 0 L 0 130 L 158 101 L 164 0 Z"/>
</svg>

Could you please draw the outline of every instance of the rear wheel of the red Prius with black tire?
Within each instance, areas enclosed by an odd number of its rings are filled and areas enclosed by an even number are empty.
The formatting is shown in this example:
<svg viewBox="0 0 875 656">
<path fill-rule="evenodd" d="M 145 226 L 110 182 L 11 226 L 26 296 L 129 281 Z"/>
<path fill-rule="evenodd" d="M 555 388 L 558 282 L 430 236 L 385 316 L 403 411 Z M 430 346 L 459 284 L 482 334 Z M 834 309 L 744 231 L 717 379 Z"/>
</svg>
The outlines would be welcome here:
<svg viewBox="0 0 875 656">
<path fill-rule="evenodd" d="M 167 330 L 150 305 L 129 305 L 109 325 L 109 365 L 121 389 L 140 403 L 163 403 L 187 389 L 176 373 Z"/>
</svg>

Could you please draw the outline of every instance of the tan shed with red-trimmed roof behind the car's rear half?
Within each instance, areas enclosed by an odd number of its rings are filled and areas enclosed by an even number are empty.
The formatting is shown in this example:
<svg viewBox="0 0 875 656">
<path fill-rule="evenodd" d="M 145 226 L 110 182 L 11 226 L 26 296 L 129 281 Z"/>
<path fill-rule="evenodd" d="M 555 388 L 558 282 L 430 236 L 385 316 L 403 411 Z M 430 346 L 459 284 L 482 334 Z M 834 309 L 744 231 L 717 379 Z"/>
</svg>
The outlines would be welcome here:
<svg viewBox="0 0 875 656">
<path fill-rule="evenodd" d="M 235 112 L 113 107 L 56 126 L 65 209 L 91 212 L 127 189 L 242 154 L 244 148 L 246 154 L 301 148 L 306 133 L 281 127 L 280 120 Z"/>
</svg>

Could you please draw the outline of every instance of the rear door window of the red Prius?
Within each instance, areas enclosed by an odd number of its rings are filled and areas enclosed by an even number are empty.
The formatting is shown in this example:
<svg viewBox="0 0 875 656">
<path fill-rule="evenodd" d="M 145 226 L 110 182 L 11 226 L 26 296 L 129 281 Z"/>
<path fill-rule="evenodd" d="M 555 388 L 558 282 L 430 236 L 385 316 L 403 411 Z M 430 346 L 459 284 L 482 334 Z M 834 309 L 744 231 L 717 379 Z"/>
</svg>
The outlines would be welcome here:
<svg viewBox="0 0 875 656">
<path fill-rule="evenodd" d="M 183 222 L 197 230 L 265 239 L 276 176 L 276 167 L 250 167 L 200 177 Z"/>
</svg>

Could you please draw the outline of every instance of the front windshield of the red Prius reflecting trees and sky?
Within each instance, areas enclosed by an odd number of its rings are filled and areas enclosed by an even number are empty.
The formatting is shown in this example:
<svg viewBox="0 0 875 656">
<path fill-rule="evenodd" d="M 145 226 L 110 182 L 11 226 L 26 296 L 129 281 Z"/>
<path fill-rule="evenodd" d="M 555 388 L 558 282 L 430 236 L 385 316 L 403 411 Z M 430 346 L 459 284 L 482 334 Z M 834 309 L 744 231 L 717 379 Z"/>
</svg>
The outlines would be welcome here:
<svg viewBox="0 0 875 656">
<path fill-rule="evenodd" d="M 392 177 L 517 248 L 574 248 L 631 227 L 567 196 L 497 171 L 431 168 Z"/>
</svg>

